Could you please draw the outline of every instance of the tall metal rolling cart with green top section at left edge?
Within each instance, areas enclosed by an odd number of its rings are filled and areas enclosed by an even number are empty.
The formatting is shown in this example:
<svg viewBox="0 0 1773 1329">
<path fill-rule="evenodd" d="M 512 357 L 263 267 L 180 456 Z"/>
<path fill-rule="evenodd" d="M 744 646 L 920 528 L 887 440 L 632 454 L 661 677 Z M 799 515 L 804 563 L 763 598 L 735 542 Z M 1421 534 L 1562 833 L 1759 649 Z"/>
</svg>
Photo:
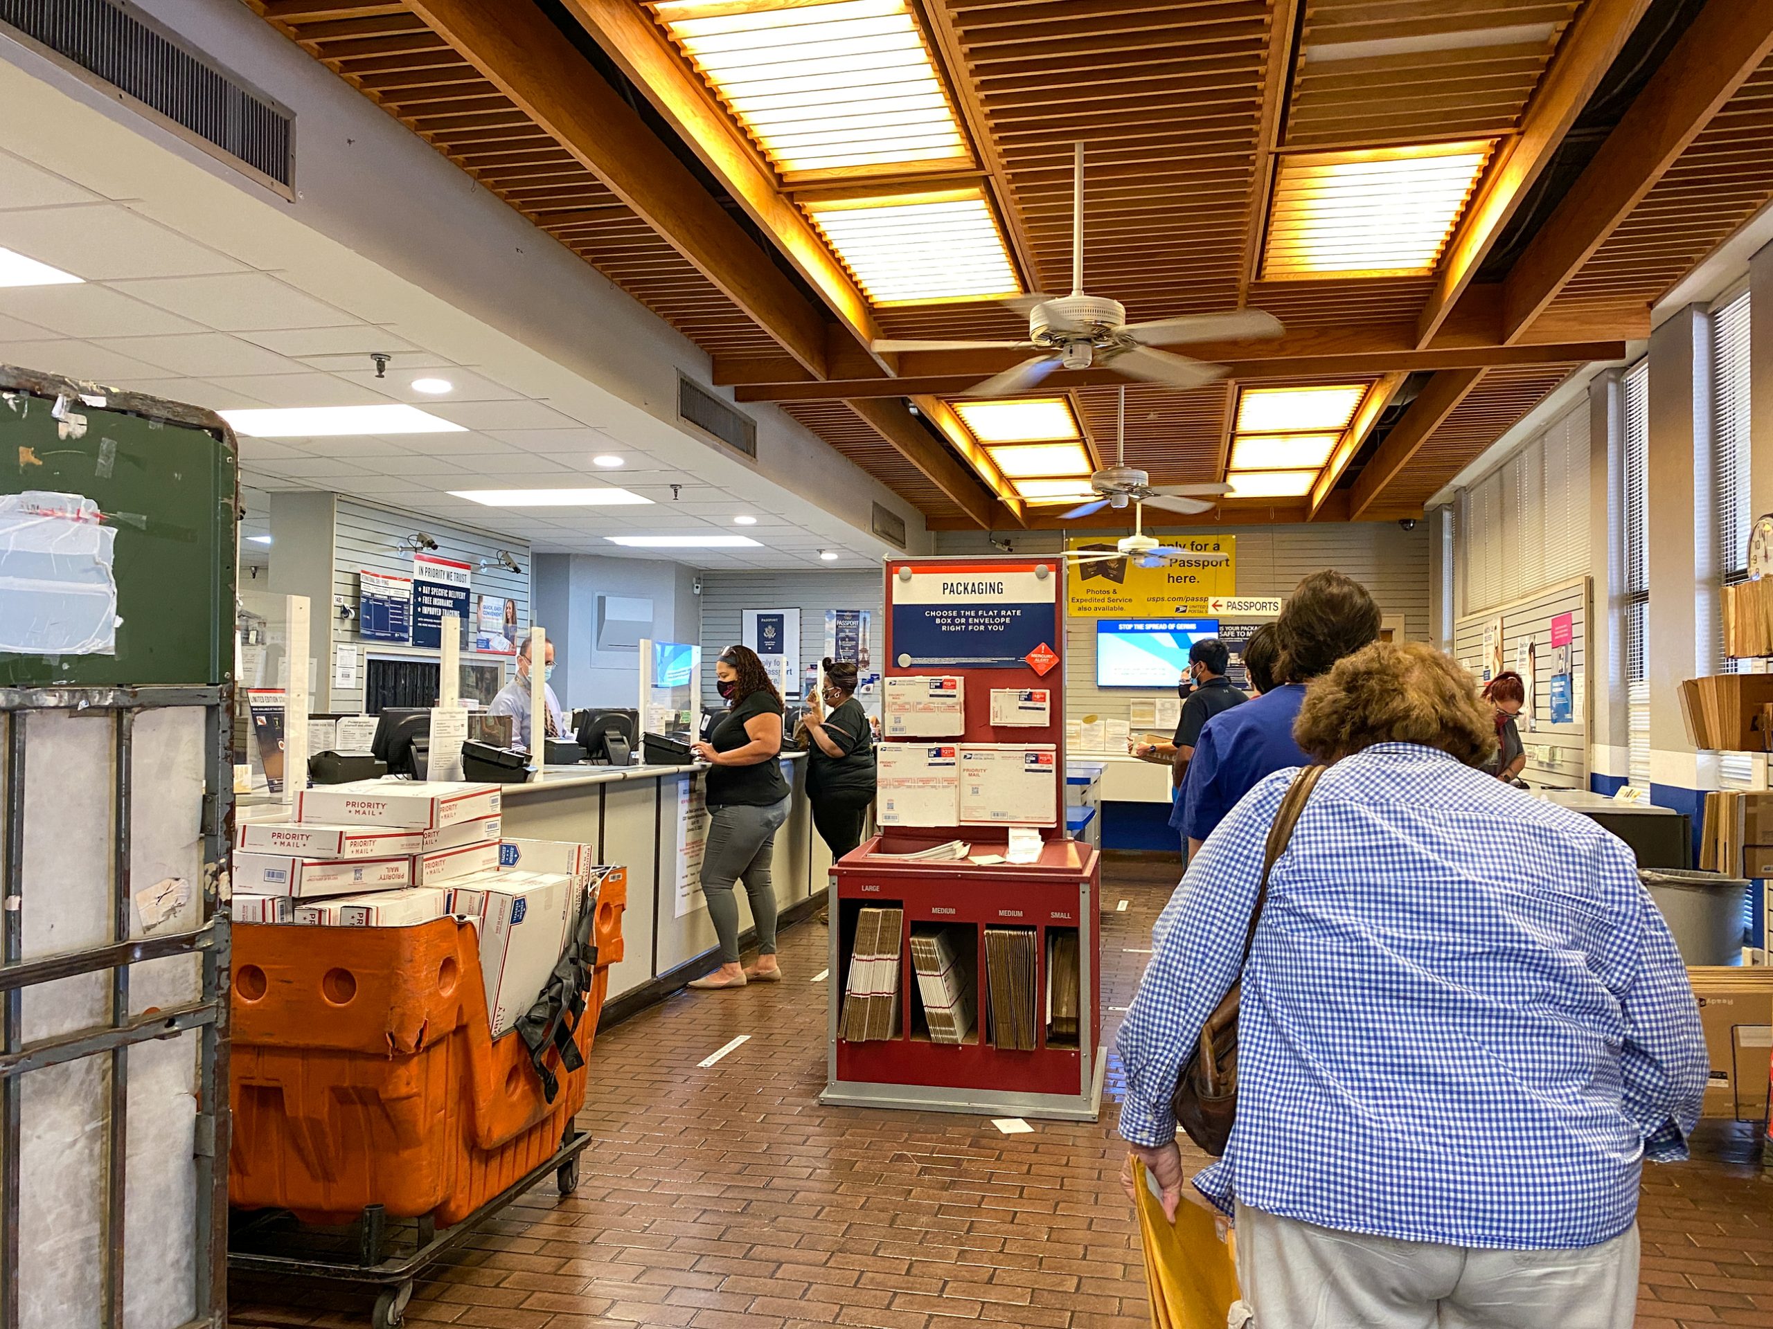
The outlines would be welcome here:
<svg viewBox="0 0 1773 1329">
<path fill-rule="evenodd" d="M 0 1327 L 222 1329 L 238 471 L 0 367 Z"/>
</svg>

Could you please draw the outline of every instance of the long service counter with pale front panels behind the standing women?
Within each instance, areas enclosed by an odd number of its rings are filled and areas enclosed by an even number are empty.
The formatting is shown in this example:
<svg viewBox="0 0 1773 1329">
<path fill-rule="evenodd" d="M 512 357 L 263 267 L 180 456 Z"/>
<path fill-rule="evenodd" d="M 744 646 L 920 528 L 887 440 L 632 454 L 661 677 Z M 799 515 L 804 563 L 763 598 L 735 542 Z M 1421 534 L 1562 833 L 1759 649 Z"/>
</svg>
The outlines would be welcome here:
<svg viewBox="0 0 1773 1329">
<path fill-rule="evenodd" d="M 780 760 L 794 790 L 771 868 L 785 927 L 823 904 L 832 856 L 812 829 L 805 753 L 784 753 Z M 704 771 L 704 766 L 551 766 L 539 783 L 505 785 L 507 836 L 578 840 L 598 851 L 599 863 L 628 867 L 624 955 L 610 966 L 606 1022 L 711 968 L 715 927 L 697 882 L 700 843 L 691 815 L 691 806 L 700 806 Z M 736 890 L 743 897 L 743 886 Z M 750 907 L 741 905 L 739 916 L 750 918 Z M 752 944 L 750 932 L 741 944 Z"/>
</svg>

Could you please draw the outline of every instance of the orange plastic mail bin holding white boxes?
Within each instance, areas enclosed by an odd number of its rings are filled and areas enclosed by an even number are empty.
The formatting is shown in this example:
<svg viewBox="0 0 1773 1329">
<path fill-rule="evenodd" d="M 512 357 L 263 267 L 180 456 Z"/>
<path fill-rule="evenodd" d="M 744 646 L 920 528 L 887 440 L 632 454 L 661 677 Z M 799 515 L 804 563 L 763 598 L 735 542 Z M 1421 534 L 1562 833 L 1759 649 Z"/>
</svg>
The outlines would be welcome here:
<svg viewBox="0 0 1773 1329">
<path fill-rule="evenodd" d="M 608 966 L 622 959 L 628 872 L 598 893 L 592 976 L 576 1042 L 589 1058 Z M 495 1040 L 475 929 L 248 923 L 234 929 L 229 1203 L 344 1224 L 459 1223 L 543 1166 L 585 1104 L 589 1070 L 543 1097 L 528 1047 Z"/>
</svg>

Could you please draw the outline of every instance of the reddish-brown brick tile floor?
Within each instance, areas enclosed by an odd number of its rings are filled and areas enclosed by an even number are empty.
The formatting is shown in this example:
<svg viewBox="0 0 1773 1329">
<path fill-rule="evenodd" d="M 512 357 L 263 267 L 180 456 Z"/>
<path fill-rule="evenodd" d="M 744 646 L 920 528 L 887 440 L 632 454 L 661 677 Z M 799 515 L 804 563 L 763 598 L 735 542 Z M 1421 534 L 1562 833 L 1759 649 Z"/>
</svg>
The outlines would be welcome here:
<svg viewBox="0 0 1773 1329">
<path fill-rule="evenodd" d="M 1168 886 L 1105 897 L 1112 1040 Z M 828 982 L 808 980 L 826 964 L 824 925 L 782 943 L 789 982 L 684 992 L 599 1035 L 578 1193 L 550 1184 L 509 1209 L 420 1283 L 413 1325 L 1149 1324 L 1112 1104 L 1096 1125 L 1035 1122 L 1025 1136 L 821 1108 Z M 741 1033 L 750 1042 L 697 1069 Z M 1642 1230 L 1642 1329 L 1773 1324 L 1773 1180 L 1748 1127 L 1707 1123 L 1691 1164 L 1652 1168 Z M 238 1329 L 369 1324 L 360 1295 L 239 1279 L 232 1294 Z"/>
</svg>

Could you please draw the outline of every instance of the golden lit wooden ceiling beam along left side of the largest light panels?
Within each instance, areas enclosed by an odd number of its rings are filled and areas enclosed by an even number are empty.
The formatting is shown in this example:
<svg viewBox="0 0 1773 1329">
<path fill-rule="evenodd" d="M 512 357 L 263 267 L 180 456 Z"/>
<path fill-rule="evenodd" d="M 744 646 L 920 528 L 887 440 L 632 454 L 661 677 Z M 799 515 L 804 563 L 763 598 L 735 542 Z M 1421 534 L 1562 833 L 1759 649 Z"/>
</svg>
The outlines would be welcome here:
<svg viewBox="0 0 1773 1329">
<path fill-rule="evenodd" d="M 633 0 L 566 0 L 566 9 L 683 136 L 794 271 L 819 292 L 879 372 L 890 374 L 892 358 L 871 349 L 885 333 L 867 296 L 658 25 Z"/>
</svg>

